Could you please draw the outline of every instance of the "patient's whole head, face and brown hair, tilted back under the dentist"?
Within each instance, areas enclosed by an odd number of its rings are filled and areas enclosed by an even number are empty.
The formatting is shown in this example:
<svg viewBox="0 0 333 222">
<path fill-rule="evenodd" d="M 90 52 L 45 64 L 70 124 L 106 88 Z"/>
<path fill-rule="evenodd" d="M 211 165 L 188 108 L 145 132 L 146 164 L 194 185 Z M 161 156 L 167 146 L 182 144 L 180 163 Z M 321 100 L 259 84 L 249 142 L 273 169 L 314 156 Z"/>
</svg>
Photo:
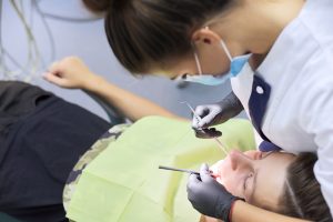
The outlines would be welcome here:
<svg viewBox="0 0 333 222">
<path fill-rule="evenodd" d="M 332 221 L 313 173 L 315 154 L 232 151 L 211 170 L 233 195 L 284 215 L 311 221 Z M 201 221 L 216 221 L 202 218 Z"/>
</svg>

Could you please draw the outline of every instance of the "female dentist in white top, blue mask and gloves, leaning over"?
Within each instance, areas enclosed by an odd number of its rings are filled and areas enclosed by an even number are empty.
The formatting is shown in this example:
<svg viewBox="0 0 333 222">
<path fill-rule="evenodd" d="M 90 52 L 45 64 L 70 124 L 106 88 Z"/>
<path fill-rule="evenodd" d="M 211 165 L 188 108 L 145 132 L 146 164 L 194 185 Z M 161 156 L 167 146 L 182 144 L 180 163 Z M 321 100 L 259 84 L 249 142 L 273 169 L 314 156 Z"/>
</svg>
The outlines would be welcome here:
<svg viewBox="0 0 333 222">
<path fill-rule="evenodd" d="M 243 107 L 262 151 L 317 154 L 314 173 L 333 213 L 332 12 L 332 0 L 113 0 L 105 31 L 133 73 L 205 84 L 231 79 L 233 93 L 198 108 L 202 121 L 193 128 L 223 122 Z M 255 175 L 246 181 L 255 183 Z M 198 211 L 223 221 L 297 221 L 232 196 L 206 165 L 190 176 L 188 192 Z"/>
</svg>

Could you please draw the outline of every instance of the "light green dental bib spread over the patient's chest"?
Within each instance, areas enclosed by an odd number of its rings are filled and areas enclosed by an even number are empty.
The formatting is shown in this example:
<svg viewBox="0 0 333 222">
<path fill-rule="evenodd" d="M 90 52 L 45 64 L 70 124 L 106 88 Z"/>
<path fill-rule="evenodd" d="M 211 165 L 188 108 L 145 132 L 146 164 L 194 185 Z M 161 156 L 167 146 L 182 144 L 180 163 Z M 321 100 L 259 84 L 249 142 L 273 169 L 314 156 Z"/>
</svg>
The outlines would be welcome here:
<svg viewBox="0 0 333 222">
<path fill-rule="evenodd" d="M 251 123 L 218 127 L 228 150 L 255 149 Z M 69 205 L 77 222 L 195 222 L 186 198 L 188 174 L 159 165 L 199 170 L 224 158 L 213 140 L 196 139 L 189 122 L 149 117 L 128 130 L 83 171 Z"/>
</svg>

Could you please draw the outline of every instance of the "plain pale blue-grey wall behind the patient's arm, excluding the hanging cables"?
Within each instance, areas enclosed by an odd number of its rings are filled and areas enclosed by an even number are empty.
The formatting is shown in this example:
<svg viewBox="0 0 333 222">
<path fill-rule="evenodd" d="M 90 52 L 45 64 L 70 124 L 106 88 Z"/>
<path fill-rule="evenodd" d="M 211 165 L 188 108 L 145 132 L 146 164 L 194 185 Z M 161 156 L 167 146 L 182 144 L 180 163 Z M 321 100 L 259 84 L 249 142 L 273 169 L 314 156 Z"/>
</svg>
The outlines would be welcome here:
<svg viewBox="0 0 333 222">
<path fill-rule="evenodd" d="M 47 61 L 46 63 L 49 64 L 51 63 L 51 44 L 46 32 L 46 27 L 41 22 L 40 14 L 33 8 L 31 9 L 31 0 L 23 0 L 22 2 L 28 18 L 32 14 L 33 33 Z M 41 10 L 47 13 L 72 18 L 90 18 L 92 16 L 83 8 L 80 0 L 39 0 L 38 2 Z M 3 0 L 2 12 L 1 43 L 12 57 L 19 62 L 24 63 L 28 50 L 26 34 L 9 0 Z M 102 20 L 73 23 L 48 18 L 47 22 L 54 38 L 57 60 L 67 56 L 79 56 L 91 70 L 104 75 L 111 82 L 145 97 L 183 117 L 190 117 L 191 114 L 184 104 L 180 104 L 181 101 L 189 101 L 193 105 L 220 101 L 230 91 L 229 84 L 220 87 L 190 84 L 185 89 L 178 89 L 173 82 L 161 78 L 148 77 L 143 80 L 134 79 L 119 64 L 112 54 L 107 42 Z M 13 67 L 9 60 L 7 60 L 7 63 Z M 38 74 L 41 74 L 41 71 Z M 78 103 L 105 118 L 101 108 L 80 90 L 59 89 L 47 83 L 41 78 L 37 78 L 33 82 L 65 98 L 68 101 Z"/>
</svg>

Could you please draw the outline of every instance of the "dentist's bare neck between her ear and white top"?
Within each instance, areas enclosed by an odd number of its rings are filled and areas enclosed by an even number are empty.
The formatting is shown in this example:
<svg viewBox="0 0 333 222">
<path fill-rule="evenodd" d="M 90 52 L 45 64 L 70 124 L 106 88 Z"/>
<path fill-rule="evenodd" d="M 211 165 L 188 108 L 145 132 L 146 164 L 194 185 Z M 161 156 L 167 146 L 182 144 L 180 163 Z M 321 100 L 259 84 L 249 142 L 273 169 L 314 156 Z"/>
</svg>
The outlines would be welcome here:
<svg viewBox="0 0 333 222">
<path fill-rule="evenodd" d="M 221 37 L 236 54 L 266 54 L 283 29 L 304 6 L 304 0 L 243 1 L 216 27 Z M 225 33 L 225 30 L 229 30 Z"/>
</svg>

